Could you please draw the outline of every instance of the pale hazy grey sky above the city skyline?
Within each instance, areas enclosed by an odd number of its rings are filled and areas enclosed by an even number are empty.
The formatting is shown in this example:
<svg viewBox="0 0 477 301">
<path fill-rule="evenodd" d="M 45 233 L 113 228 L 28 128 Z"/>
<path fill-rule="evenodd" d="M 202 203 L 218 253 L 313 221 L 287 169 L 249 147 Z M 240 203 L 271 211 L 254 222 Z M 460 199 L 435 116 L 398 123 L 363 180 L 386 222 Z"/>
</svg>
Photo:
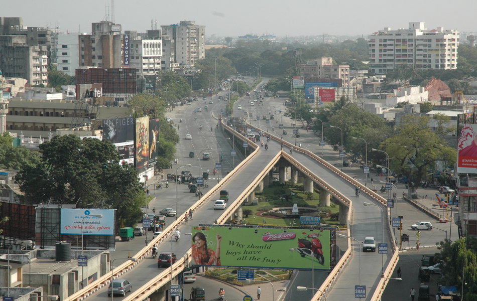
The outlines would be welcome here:
<svg viewBox="0 0 477 301">
<path fill-rule="evenodd" d="M 63 32 L 90 32 L 91 23 L 106 20 L 110 0 L 4 0 L 2 17 L 23 17 L 24 25 L 57 27 Z M 276 36 L 365 35 L 384 27 L 407 28 L 426 22 L 460 32 L 477 32 L 477 2 L 473 0 L 115 0 L 115 23 L 124 30 L 145 32 L 151 20 L 158 27 L 195 21 L 206 36 L 247 33 Z"/>
</svg>

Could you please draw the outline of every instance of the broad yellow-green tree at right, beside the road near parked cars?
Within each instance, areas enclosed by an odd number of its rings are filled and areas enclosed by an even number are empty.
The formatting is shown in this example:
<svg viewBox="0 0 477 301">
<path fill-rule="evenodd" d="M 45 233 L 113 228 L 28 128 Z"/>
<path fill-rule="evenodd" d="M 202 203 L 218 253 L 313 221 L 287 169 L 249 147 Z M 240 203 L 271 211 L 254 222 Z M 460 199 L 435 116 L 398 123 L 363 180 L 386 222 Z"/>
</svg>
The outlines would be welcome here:
<svg viewBox="0 0 477 301">
<path fill-rule="evenodd" d="M 397 134 L 386 139 L 380 145 L 391 160 L 391 170 L 406 176 L 413 191 L 435 168 L 436 161 L 445 166 L 455 163 L 456 150 L 428 127 L 429 117 L 403 116 L 397 127 Z"/>
</svg>

